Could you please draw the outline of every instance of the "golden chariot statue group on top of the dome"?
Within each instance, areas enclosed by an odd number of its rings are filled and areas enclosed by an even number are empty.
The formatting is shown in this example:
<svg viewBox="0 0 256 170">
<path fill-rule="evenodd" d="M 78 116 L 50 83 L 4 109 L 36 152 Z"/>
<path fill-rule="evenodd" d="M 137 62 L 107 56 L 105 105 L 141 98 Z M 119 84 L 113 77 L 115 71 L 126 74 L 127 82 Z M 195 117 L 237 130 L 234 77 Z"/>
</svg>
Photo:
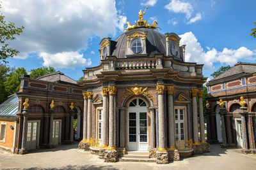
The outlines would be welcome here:
<svg viewBox="0 0 256 170">
<path fill-rule="evenodd" d="M 142 11 L 142 10 L 139 11 L 139 14 L 138 14 L 139 20 L 137 22 L 135 21 L 135 25 L 132 25 L 131 22 L 127 21 L 126 22 L 127 27 L 125 29 L 127 31 L 137 28 L 137 27 L 147 27 L 150 29 L 158 29 L 158 28 L 161 29 L 160 27 L 157 27 L 158 23 L 156 20 L 154 20 L 153 24 L 147 24 L 147 20 L 143 20 L 144 19 L 143 15 L 145 15 L 147 9 L 148 9 L 148 7 L 146 7 L 145 11 Z"/>
</svg>

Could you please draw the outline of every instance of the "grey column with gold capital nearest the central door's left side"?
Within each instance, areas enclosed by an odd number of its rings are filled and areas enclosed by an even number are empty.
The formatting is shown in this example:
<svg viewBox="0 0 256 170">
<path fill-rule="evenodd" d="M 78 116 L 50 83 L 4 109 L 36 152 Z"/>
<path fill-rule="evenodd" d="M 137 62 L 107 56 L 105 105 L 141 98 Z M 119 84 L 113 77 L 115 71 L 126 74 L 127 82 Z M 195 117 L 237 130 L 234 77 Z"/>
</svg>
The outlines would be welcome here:
<svg viewBox="0 0 256 170">
<path fill-rule="evenodd" d="M 108 150 L 115 150 L 115 95 L 116 87 L 109 86 L 109 147 Z"/>
</svg>

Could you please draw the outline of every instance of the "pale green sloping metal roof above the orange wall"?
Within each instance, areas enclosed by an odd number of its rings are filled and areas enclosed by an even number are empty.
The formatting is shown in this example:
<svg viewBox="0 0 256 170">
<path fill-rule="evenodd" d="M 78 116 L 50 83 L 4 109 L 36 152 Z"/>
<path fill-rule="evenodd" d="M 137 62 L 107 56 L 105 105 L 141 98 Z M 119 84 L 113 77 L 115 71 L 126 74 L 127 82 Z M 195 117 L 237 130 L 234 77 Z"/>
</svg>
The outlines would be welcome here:
<svg viewBox="0 0 256 170">
<path fill-rule="evenodd" d="M 19 97 L 17 94 L 10 96 L 4 103 L 0 104 L 0 117 L 16 117 L 18 103 Z"/>
</svg>

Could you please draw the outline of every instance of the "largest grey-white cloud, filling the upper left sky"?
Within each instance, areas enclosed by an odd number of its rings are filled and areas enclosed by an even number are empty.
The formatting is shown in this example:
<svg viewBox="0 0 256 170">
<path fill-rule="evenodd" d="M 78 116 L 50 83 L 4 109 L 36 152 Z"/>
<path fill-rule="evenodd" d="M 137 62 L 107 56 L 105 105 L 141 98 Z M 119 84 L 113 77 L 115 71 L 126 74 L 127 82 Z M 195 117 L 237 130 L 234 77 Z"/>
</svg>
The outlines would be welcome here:
<svg viewBox="0 0 256 170">
<path fill-rule="evenodd" d="M 93 36 L 103 38 L 109 34 L 115 36 L 116 32 L 124 29 L 126 22 L 126 17 L 116 10 L 115 0 L 9 0 L 3 1 L 2 7 L 6 20 L 25 27 L 24 32 L 9 43 L 20 51 L 17 57 L 23 59 L 29 53 L 43 53 L 48 57 L 78 53 L 85 50 L 88 39 Z M 83 57 L 73 57 L 72 62 L 60 66 L 75 67 L 72 63 L 76 59 Z M 76 62 L 77 66 L 86 64 L 79 60 Z"/>
</svg>

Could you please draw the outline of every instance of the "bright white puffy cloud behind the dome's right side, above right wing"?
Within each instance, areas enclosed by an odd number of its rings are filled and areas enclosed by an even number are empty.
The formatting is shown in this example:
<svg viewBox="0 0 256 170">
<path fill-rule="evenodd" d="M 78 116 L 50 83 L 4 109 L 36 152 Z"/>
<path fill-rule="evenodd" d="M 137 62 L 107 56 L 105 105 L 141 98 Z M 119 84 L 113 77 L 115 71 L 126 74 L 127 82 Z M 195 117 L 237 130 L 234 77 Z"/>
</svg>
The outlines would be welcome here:
<svg viewBox="0 0 256 170">
<path fill-rule="evenodd" d="M 180 45 L 186 45 L 186 62 L 198 62 L 205 64 L 204 69 L 213 69 L 214 62 L 221 62 L 234 65 L 239 60 L 253 60 L 256 52 L 242 46 L 237 50 L 224 48 L 222 52 L 218 52 L 215 48 L 202 48 L 193 32 L 186 32 L 180 35 Z M 254 59 L 255 60 L 255 59 Z"/>
</svg>

